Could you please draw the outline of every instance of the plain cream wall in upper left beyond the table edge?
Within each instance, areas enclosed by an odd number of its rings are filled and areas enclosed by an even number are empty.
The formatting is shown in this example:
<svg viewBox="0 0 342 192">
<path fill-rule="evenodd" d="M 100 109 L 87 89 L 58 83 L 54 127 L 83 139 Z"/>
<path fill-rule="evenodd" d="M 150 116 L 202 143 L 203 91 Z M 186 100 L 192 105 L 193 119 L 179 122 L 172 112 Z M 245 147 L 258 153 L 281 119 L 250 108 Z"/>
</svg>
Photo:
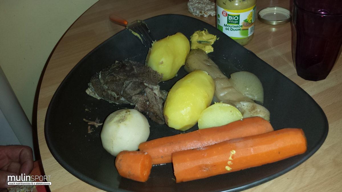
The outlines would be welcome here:
<svg viewBox="0 0 342 192">
<path fill-rule="evenodd" d="M 53 47 L 95 2 L 0 0 L 0 66 L 31 123 L 38 80 Z"/>
</svg>

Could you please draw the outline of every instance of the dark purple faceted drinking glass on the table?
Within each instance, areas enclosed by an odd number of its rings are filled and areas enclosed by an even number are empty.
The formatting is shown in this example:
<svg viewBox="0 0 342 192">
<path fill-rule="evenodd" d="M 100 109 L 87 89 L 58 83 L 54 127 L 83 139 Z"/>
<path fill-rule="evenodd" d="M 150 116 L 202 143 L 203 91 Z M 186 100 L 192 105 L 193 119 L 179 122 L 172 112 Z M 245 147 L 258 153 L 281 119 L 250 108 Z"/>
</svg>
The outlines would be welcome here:
<svg viewBox="0 0 342 192">
<path fill-rule="evenodd" d="M 293 1 L 292 59 L 306 80 L 325 79 L 341 54 L 342 3 L 326 2 Z"/>
</svg>

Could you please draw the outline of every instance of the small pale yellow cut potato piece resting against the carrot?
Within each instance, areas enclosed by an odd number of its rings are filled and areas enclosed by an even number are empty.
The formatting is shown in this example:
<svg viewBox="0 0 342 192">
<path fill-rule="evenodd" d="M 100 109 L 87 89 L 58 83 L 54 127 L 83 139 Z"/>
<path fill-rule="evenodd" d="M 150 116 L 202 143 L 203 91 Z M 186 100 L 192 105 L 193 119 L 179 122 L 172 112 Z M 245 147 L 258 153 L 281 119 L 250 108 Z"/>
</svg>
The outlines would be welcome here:
<svg viewBox="0 0 342 192">
<path fill-rule="evenodd" d="M 198 119 L 198 128 L 218 127 L 242 119 L 241 112 L 234 106 L 215 103 L 203 110 Z"/>
</svg>

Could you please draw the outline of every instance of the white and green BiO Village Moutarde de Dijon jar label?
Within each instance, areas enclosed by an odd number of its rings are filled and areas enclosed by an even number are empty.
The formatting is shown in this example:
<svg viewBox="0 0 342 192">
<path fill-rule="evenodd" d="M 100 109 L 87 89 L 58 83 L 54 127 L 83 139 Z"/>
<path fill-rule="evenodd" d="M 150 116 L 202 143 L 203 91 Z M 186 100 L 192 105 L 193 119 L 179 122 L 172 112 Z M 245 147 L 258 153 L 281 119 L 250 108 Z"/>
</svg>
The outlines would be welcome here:
<svg viewBox="0 0 342 192">
<path fill-rule="evenodd" d="M 243 39 L 254 33 L 256 6 L 228 10 L 217 5 L 217 28 L 232 39 Z"/>
</svg>

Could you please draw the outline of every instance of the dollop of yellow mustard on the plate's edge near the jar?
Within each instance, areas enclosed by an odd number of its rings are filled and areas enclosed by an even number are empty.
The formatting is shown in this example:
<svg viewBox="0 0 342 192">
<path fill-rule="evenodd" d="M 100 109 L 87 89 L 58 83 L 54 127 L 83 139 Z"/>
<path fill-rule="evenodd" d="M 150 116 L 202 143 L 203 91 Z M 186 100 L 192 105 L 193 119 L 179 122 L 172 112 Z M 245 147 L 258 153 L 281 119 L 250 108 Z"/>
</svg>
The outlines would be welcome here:
<svg viewBox="0 0 342 192">
<path fill-rule="evenodd" d="M 214 51 L 211 45 L 216 41 L 216 36 L 210 34 L 207 29 L 203 31 L 198 30 L 190 37 L 190 41 L 191 49 L 201 49 L 206 53 L 210 53 Z"/>
</svg>

